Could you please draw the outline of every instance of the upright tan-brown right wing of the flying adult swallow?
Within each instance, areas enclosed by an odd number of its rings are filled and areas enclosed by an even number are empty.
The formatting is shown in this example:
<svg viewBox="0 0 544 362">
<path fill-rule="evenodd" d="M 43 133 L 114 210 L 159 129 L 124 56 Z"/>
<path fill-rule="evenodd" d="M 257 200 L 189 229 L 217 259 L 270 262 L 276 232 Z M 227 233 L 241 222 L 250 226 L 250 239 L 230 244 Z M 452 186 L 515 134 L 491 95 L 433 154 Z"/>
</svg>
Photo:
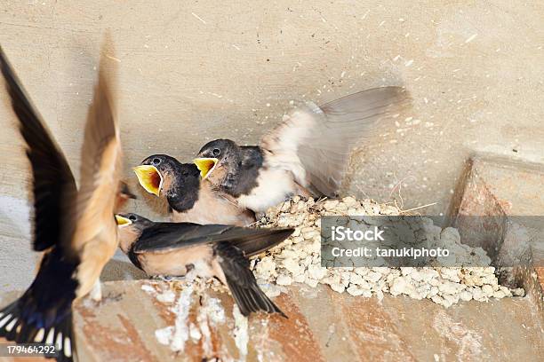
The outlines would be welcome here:
<svg viewBox="0 0 544 362">
<path fill-rule="evenodd" d="M 73 239 L 78 244 L 91 240 L 104 227 L 116 227 L 112 221 L 119 192 L 122 151 L 115 104 L 108 83 L 112 76 L 106 73 L 103 55 L 81 152 L 81 185 Z M 110 232 L 115 235 L 115 231 Z"/>
</svg>

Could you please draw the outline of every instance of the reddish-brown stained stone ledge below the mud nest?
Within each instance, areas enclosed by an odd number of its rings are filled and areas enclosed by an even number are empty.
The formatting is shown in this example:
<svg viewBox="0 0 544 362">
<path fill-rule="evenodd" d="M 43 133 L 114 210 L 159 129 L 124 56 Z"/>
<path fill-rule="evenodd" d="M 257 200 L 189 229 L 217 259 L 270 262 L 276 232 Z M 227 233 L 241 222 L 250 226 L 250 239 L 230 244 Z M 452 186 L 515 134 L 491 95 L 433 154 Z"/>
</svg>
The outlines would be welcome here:
<svg viewBox="0 0 544 362">
<path fill-rule="evenodd" d="M 143 290 L 142 286 L 150 287 Z M 149 292 L 151 288 L 157 294 Z M 173 304 L 156 297 L 169 289 L 175 290 L 177 299 L 181 289 L 176 284 L 107 282 L 103 292 L 108 296 L 102 303 L 77 303 L 75 327 L 81 360 L 200 361 L 205 356 L 248 361 L 517 361 L 544 355 L 542 323 L 535 318 L 537 311 L 528 298 L 471 301 L 445 309 L 408 297 L 386 295 L 380 302 L 377 298 L 340 295 L 322 285 L 287 287 L 287 293 L 276 297 L 275 302 L 289 319 L 253 315 L 247 327 L 245 356 L 244 342 L 236 342 L 234 336 L 230 295 L 210 288 L 202 294 L 195 292 L 185 323 L 195 324 L 200 338 L 189 338 L 183 351 L 173 352 L 157 342 L 155 335 L 157 329 L 175 323 L 176 316 L 170 311 Z M 199 319 L 206 298 L 219 299 L 225 316 L 222 322 Z M 204 338 L 206 327 L 209 337 Z"/>
</svg>

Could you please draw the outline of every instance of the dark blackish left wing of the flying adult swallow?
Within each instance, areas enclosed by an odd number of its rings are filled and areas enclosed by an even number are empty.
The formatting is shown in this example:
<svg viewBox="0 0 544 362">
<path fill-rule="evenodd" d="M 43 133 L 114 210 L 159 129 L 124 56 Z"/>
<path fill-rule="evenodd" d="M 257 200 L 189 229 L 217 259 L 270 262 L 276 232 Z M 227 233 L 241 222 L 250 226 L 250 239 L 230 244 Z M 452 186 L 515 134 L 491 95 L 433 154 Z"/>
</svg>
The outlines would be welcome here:
<svg viewBox="0 0 544 362">
<path fill-rule="evenodd" d="M 20 134 L 28 146 L 34 193 L 33 248 L 42 251 L 68 237 L 63 225 L 76 197 L 76 182 L 64 154 L 46 130 L 2 49 L 0 67 L 13 111 L 20 122 Z"/>
</svg>

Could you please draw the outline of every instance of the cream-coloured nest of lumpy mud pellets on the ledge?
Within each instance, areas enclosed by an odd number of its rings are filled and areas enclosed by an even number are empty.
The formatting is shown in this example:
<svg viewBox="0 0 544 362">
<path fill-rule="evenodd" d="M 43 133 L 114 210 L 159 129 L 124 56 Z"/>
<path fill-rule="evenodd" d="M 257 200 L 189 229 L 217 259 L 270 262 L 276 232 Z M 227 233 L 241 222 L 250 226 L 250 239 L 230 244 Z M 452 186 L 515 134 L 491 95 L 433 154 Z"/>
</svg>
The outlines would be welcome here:
<svg viewBox="0 0 544 362">
<path fill-rule="evenodd" d="M 357 201 L 346 197 L 340 201 L 294 197 L 275 208 L 268 209 L 258 225 L 261 227 L 294 227 L 292 236 L 252 260 L 252 270 L 269 296 L 279 295 L 294 283 L 309 287 L 326 284 L 338 293 L 382 298 L 408 295 L 414 299 L 427 298 L 446 307 L 462 301 L 488 301 L 489 298 L 522 296 L 524 289 L 500 286 L 491 259 L 482 248 L 471 248 L 460 242 L 457 229 L 442 229 L 425 218 L 424 235 L 435 245 L 447 245 L 457 257 L 470 258 L 478 267 L 343 267 L 321 266 L 322 216 L 399 216 L 395 206 L 371 200 Z"/>
</svg>

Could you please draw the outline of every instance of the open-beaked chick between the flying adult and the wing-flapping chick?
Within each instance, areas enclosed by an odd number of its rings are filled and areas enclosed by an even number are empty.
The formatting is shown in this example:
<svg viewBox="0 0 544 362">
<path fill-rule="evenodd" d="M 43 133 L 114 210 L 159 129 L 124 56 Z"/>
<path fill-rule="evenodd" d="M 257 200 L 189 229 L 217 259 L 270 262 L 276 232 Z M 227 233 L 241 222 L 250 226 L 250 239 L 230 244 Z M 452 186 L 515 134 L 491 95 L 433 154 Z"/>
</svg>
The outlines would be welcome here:
<svg viewBox="0 0 544 362">
<path fill-rule="evenodd" d="M 255 222 L 250 210 L 240 209 L 228 194 L 217 194 L 212 184 L 201 183 L 193 163 L 181 163 L 166 154 L 153 154 L 134 168 L 140 185 L 166 199 L 172 221 L 246 226 Z"/>
</svg>

